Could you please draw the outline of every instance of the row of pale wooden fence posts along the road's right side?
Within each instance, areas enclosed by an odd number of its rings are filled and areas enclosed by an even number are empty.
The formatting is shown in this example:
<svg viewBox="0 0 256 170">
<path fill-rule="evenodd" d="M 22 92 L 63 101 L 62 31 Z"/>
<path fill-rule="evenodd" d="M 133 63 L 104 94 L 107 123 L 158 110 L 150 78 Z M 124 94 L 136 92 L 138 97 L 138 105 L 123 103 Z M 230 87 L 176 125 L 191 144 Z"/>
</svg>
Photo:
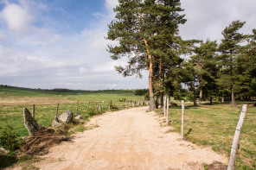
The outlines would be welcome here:
<svg viewBox="0 0 256 170">
<path fill-rule="evenodd" d="M 242 110 L 240 113 L 240 119 L 237 123 L 236 129 L 234 132 L 234 140 L 232 143 L 227 170 L 235 169 L 235 159 L 236 159 L 236 154 L 238 153 L 238 148 L 239 148 L 240 132 L 241 132 L 243 123 L 246 119 L 246 110 L 247 110 L 247 104 L 243 104 Z M 184 100 L 182 100 L 182 139 L 184 138 L 184 113 L 185 113 L 185 105 L 184 105 Z M 166 116 L 167 125 L 169 125 L 170 120 L 169 120 L 169 97 L 168 96 L 163 97 L 163 114 L 164 116 Z"/>
</svg>

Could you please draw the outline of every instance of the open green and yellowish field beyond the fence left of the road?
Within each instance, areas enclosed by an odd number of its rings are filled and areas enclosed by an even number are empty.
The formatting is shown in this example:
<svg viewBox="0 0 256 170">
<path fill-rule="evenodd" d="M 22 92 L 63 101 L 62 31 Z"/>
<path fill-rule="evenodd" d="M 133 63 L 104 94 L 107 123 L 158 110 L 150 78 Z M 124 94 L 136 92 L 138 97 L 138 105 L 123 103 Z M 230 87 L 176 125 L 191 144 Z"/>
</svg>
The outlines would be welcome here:
<svg viewBox="0 0 256 170">
<path fill-rule="evenodd" d="M 10 124 L 18 135 L 28 135 L 23 123 L 22 110 L 26 107 L 32 111 L 32 104 L 35 104 L 35 120 L 37 123 L 48 127 L 54 119 L 56 104 L 60 104 L 59 114 L 65 110 L 71 110 L 75 113 L 76 103 L 80 101 L 79 114 L 88 117 L 95 114 L 95 101 L 105 101 L 104 111 L 107 111 L 111 100 L 112 104 L 115 102 L 115 105 L 121 107 L 125 104 L 118 103 L 118 100 L 124 98 L 126 100 L 142 101 L 144 97 L 135 96 L 134 91 L 52 92 L 0 86 L 0 134 L 3 128 Z M 88 101 L 91 104 L 88 110 L 89 113 L 86 113 Z M 98 103 L 98 105 L 102 106 L 102 103 Z"/>
</svg>

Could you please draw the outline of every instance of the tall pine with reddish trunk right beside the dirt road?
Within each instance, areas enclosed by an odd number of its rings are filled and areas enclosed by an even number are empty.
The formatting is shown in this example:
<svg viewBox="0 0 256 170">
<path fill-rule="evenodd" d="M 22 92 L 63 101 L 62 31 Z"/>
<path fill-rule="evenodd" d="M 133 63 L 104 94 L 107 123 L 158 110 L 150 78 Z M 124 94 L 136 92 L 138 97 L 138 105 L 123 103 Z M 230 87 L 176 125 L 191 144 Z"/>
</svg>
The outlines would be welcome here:
<svg viewBox="0 0 256 170">
<path fill-rule="evenodd" d="M 178 25 L 186 22 L 179 15 L 180 0 L 118 0 L 116 19 L 109 24 L 107 39 L 118 41 L 109 46 L 113 60 L 127 57 L 127 66 L 117 66 L 123 76 L 149 71 L 150 110 L 155 110 L 154 77 L 156 62 L 176 51 Z M 159 67 L 159 74 L 162 67 Z M 160 76 L 159 76 L 160 77 Z M 161 78 L 162 79 L 162 78 Z"/>
</svg>

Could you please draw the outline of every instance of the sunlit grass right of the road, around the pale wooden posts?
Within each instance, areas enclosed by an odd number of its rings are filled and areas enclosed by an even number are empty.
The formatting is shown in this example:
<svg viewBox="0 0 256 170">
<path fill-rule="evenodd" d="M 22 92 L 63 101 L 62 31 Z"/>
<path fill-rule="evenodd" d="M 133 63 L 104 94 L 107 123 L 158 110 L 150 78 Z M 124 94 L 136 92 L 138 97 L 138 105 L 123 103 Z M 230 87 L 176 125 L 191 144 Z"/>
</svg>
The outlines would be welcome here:
<svg viewBox="0 0 256 170">
<path fill-rule="evenodd" d="M 236 160 L 236 169 L 256 169 L 256 107 L 248 104 L 246 120 L 240 135 L 240 148 Z M 241 106 L 228 103 L 208 103 L 194 107 L 185 104 L 184 134 L 185 140 L 210 146 L 214 151 L 229 156 L 236 125 L 240 117 Z M 163 110 L 157 110 L 163 114 Z M 181 133 L 181 106 L 170 106 L 170 121 L 176 131 Z"/>
</svg>

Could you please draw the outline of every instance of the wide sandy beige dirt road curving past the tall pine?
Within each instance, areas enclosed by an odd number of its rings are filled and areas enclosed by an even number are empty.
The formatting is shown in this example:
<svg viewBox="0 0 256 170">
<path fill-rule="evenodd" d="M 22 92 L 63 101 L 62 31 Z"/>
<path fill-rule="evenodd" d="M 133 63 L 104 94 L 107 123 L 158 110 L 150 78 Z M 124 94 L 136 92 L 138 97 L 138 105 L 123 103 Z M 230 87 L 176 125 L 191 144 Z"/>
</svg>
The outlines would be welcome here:
<svg viewBox="0 0 256 170">
<path fill-rule="evenodd" d="M 209 148 L 181 140 L 170 127 L 161 127 L 148 108 L 133 108 L 94 117 L 98 128 L 74 135 L 36 162 L 41 169 L 204 169 L 227 158 Z"/>
</svg>

